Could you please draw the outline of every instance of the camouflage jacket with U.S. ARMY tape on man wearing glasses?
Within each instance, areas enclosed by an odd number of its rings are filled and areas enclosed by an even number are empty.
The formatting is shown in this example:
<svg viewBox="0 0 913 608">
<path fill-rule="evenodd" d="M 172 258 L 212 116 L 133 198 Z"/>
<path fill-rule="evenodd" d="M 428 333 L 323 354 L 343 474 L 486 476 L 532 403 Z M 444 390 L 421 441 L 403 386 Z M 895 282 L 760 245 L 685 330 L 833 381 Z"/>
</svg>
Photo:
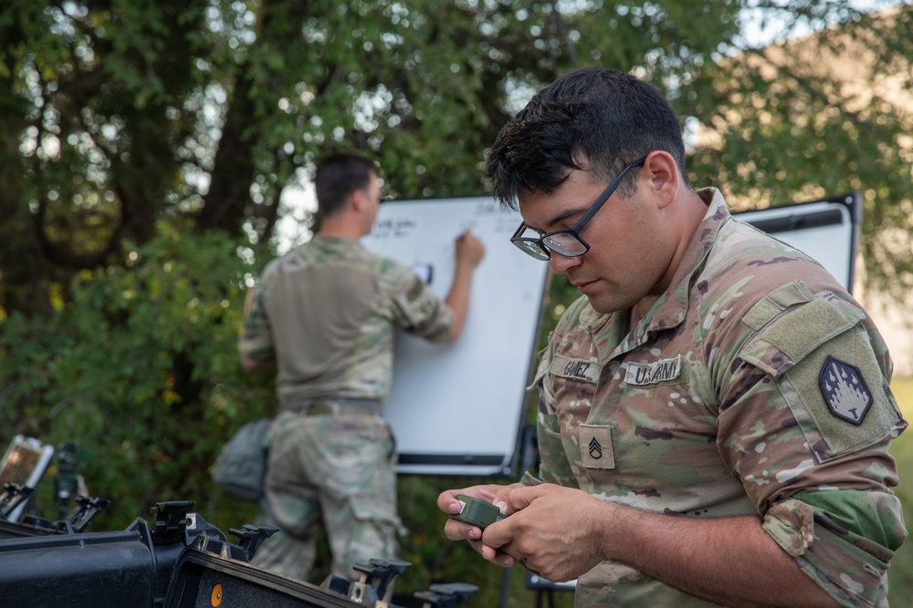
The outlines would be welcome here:
<svg viewBox="0 0 913 608">
<path fill-rule="evenodd" d="M 819 264 L 700 195 L 675 278 L 631 331 L 585 297 L 561 318 L 534 382 L 540 479 L 678 517 L 758 515 L 840 603 L 887 606 L 907 534 L 887 347 Z M 575 603 L 712 605 L 613 562 Z"/>
</svg>

